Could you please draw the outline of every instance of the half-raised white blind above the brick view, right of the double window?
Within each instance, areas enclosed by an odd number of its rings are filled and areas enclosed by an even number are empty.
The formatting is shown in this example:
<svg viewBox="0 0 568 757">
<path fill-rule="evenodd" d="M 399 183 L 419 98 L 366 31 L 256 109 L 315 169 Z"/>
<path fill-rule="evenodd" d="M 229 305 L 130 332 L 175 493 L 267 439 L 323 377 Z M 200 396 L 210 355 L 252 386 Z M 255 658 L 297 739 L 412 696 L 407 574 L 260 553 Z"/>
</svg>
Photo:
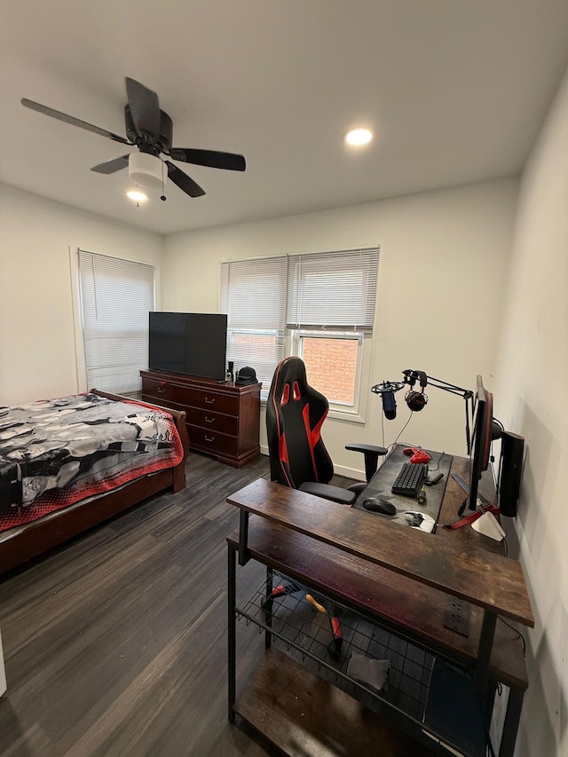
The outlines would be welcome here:
<svg viewBox="0 0 568 757">
<path fill-rule="evenodd" d="M 289 256 L 288 328 L 372 331 L 378 248 Z"/>
</svg>

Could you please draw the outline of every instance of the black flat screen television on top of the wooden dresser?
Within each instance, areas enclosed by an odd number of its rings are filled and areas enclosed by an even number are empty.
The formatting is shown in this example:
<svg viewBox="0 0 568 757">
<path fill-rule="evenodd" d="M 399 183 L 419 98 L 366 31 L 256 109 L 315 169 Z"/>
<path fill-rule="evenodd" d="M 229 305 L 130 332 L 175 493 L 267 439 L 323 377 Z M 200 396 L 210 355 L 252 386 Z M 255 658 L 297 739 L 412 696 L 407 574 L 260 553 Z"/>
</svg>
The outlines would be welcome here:
<svg viewBox="0 0 568 757">
<path fill-rule="evenodd" d="M 148 367 L 225 379 L 227 317 L 222 313 L 150 312 Z"/>
</svg>

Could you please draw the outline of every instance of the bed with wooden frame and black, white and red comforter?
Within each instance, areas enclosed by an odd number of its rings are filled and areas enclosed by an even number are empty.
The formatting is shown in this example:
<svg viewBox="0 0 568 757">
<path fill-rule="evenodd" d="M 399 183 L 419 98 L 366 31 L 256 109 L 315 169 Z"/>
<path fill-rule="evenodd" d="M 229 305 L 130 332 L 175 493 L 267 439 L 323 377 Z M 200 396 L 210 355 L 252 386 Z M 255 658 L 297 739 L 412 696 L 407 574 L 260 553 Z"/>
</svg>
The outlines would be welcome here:
<svg viewBox="0 0 568 757">
<path fill-rule="evenodd" d="M 0 574 L 185 488 L 185 413 L 109 392 L 0 409 Z"/>
</svg>

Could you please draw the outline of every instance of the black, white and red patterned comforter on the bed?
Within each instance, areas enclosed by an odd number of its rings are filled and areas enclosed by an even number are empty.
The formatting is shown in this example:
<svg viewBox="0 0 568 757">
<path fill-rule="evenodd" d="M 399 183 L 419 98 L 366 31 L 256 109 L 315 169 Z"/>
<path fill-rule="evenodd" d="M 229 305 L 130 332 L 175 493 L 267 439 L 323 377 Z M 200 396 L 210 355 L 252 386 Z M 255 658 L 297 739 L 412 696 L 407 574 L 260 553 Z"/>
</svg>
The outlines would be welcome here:
<svg viewBox="0 0 568 757">
<path fill-rule="evenodd" d="M 171 416 L 88 393 L 0 410 L 0 532 L 176 466 Z"/>
</svg>

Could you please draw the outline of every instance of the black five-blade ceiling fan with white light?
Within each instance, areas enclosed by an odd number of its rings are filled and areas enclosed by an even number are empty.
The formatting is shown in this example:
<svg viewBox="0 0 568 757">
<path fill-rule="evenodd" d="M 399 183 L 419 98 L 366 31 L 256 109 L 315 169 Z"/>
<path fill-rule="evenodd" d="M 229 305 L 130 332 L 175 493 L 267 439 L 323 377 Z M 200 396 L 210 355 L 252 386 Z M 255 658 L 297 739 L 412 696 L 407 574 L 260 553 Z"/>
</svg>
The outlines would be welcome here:
<svg viewBox="0 0 568 757">
<path fill-rule="evenodd" d="M 113 134 L 112 131 L 93 126 L 92 123 L 81 121 L 73 115 L 61 113 L 51 107 L 36 103 L 34 100 L 22 98 L 21 104 L 45 115 L 51 115 L 59 121 L 78 126 L 80 129 L 92 131 L 101 137 L 121 142 L 122 145 L 137 146 L 138 153 L 130 153 L 114 158 L 112 161 L 99 163 L 91 170 L 98 173 L 111 174 L 128 167 L 130 179 L 136 184 L 162 188 L 166 178 L 170 177 L 175 185 L 190 197 L 200 197 L 205 194 L 193 178 L 188 177 L 169 160 L 162 159 L 166 155 L 172 161 L 193 163 L 198 166 L 209 166 L 214 169 L 243 171 L 246 162 L 242 155 L 221 153 L 217 150 L 196 150 L 190 147 L 172 147 L 173 124 L 171 118 L 160 110 L 158 96 L 144 84 L 126 77 L 126 95 L 128 103 L 124 106 L 124 121 L 126 123 L 126 137 Z M 162 193 L 162 200 L 165 200 Z"/>
</svg>

